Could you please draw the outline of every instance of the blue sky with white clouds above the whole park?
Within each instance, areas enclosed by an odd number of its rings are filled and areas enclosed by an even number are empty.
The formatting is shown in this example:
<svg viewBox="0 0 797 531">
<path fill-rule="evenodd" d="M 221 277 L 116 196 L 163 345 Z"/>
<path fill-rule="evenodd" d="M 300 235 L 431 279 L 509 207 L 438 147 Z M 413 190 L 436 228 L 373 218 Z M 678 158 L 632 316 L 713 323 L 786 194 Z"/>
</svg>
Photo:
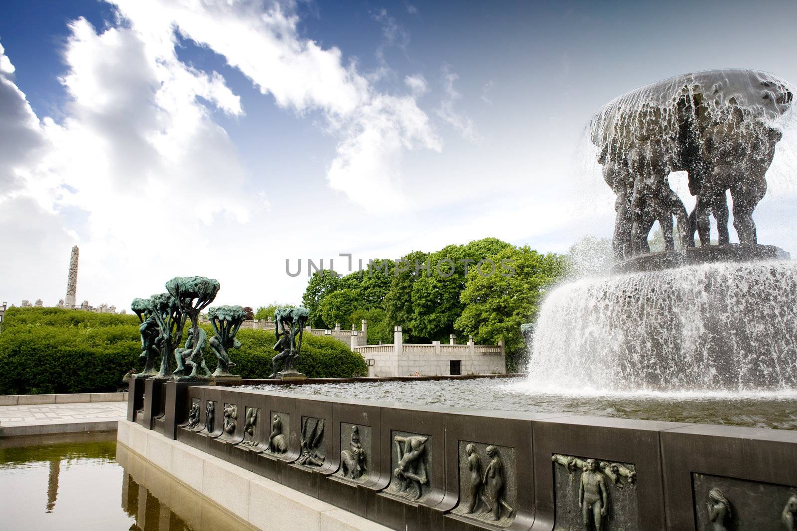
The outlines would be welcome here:
<svg viewBox="0 0 797 531">
<path fill-rule="evenodd" d="M 0 299 L 55 305 L 75 244 L 78 302 L 206 275 L 259 306 L 298 302 L 308 259 L 611 236 L 590 116 L 695 70 L 795 83 L 795 20 L 791 0 L 2 2 Z M 786 133 L 756 221 L 797 252 Z"/>
</svg>

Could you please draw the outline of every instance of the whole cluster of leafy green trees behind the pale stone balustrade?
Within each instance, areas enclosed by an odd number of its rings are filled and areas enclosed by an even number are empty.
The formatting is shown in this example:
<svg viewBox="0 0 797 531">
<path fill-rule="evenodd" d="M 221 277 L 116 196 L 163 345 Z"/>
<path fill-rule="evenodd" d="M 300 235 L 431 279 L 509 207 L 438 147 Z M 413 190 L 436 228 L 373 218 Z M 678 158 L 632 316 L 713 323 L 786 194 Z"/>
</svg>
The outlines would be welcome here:
<svg viewBox="0 0 797 531">
<path fill-rule="evenodd" d="M 359 328 L 365 319 L 370 344 L 392 342 L 397 325 L 409 342 L 448 342 L 450 334 L 463 342 L 468 335 L 487 344 L 504 340 L 508 369 L 516 370 L 525 350 L 520 325 L 536 318 L 545 290 L 563 278 L 566 264 L 560 255 L 484 238 L 371 260 L 344 276 L 318 271 L 302 301 L 317 328 Z"/>
</svg>

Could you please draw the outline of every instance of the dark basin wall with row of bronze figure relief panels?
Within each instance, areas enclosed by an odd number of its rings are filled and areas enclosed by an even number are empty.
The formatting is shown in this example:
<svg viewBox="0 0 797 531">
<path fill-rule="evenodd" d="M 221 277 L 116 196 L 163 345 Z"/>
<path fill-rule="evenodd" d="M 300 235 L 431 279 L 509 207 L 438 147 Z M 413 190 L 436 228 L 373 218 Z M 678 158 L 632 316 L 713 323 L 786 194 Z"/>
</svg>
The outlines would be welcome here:
<svg viewBox="0 0 797 531">
<path fill-rule="evenodd" d="M 794 529 L 797 517 L 797 431 L 152 380 L 130 397 L 128 420 L 392 529 Z"/>
</svg>

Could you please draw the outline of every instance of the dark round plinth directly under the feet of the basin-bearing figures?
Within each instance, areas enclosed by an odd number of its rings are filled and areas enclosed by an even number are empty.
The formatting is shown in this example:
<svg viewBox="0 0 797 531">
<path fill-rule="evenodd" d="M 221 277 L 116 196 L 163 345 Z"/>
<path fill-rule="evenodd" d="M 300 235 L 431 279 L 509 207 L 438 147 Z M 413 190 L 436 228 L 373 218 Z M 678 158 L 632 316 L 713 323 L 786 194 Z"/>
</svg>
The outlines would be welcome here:
<svg viewBox="0 0 797 531">
<path fill-rule="evenodd" d="M 641 273 L 644 271 L 662 271 L 697 264 L 714 264 L 717 262 L 757 262 L 760 260 L 789 260 L 791 255 L 775 245 L 707 245 L 692 247 L 679 251 L 651 252 L 647 255 L 634 256 L 629 260 L 614 264 L 612 273 Z"/>
</svg>

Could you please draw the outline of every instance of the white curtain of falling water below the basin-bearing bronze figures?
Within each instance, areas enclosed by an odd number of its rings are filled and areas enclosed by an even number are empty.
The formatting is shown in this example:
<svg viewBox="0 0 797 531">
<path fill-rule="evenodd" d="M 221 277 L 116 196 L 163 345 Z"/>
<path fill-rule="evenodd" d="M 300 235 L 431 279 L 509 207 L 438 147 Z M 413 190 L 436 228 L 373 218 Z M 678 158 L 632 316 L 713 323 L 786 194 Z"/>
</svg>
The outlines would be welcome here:
<svg viewBox="0 0 797 531">
<path fill-rule="evenodd" d="M 788 394 L 797 389 L 795 323 L 791 261 L 582 279 L 545 300 L 526 385 L 581 394 Z"/>
</svg>

